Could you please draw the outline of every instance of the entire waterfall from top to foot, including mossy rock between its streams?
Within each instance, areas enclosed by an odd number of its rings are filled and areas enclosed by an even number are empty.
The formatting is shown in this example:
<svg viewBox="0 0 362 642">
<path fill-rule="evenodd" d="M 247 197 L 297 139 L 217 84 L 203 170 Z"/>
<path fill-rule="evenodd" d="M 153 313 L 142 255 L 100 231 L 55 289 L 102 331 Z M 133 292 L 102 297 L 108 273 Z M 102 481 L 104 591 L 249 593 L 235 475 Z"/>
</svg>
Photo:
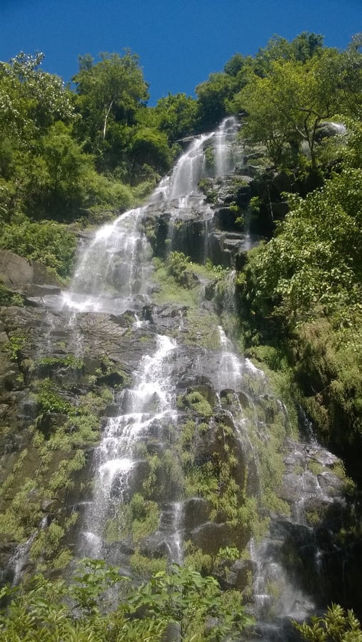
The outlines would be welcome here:
<svg viewBox="0 0 362 642">
<path fill-rule="evenodd" d="M 104 225 L 81 249 L 63 294 L 75 354 L 91 360 L 84 345 L 103 340 L 105 359 L 126 371 L 114 379 L 89 464 L 92 495 L 74 505 L 75 551 L 129 574 L 146 559 L 189 564 L 198 556 L 223 588 L 243 591 L 256 639 L 281 642 L 296 639 L 288 616 L 313 613 L 328 595 L 317 584 L 328 584 L 333 519 L 343 511 L 336 458 L 292 434 L 266 375 L 223 329 L 207 295 L 217 287 L 210 277 L 188 275 L 203 292 L 196 311 L 188 300 L 155 299 L 155 252 L 232 267 L 251 245 L 248 230 L 215 230 L 198 188 L 233 175 L 237 131 L 228 118 L 196 138 L 146 205 Z M 231 315 L 233 278 L 231 270 L 222 299 Z M 331 515 L 323 533 L 313 526 L 321 506 Z"/>
</svg>

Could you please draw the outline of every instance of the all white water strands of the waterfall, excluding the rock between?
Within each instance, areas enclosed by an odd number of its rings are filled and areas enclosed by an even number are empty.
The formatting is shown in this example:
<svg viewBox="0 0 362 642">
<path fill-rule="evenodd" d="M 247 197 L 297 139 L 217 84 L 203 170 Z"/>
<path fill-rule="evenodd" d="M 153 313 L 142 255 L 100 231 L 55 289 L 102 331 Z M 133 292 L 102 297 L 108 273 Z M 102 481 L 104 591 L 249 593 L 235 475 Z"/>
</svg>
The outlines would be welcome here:
<svg viewBox="0 0 362 642">
<path fill-rule="evenodd" d="M 161 181 L 148 204 L 121 215 L 114 223 L 104 225 L 96 233 L 80 257 L 69 292 L 64 293 L 66 307 L 75 315 L 85 311 L 121 315 L 127 310 L 139 312 L 151 300 L 152 253 L 142 227 L 144 217 L 149 211 L 157 215 L 158 205 L 167 204 L 167 210 L 171 213 L 171 249 L 173 226 L 176 229 L 178 220 L 188 220 L 191 210 L 200 213 L 202 220 L 207 223 L 212 212 L 198 190 L 198 182 L 206 178 L 208 172 L 211 177 L 232 173 L 236 163 L 233 154 L 236 131 L 236 121 L 229 118 L 217 132 L 197 138 L 181 156 L 171 175 Z M 207 146 L 213 148 L 215 162 L 211 169 L 208 169 L 206 162 Z M 228 297 L 228 307 L 234 312 L 231 291 Z M 177 330 L 182 333 L 182 317 L 177 323 L 179 327 L 176 323 L 173 327 L 175 335 Z M 134 327 L 141 331 L 142 322 L 136 320 Z M 152 332 L 152 329 L 149 330 L 151 335 Z M 248 431 L 254 431 L 260 441 L 268 441 L 266 426 L 259 419 L 257 410 L 257 398 L 263 397 L 266 392 L 266 377 L 250 360 L 236 355 L 222 327 L 219 327 L 217 339 L 220 348 L 208 355 L 207 372 L 203 357 L 198 352 L 193 361 L 192 374 L 200 379 L 208 377 L 218 394 L 218 410 L 226 417 L 231 415 L 231 422 L 236 427 L 250 468 L 250 477 L 253 478 L 250 484 L 259 496 L 259 454 Z M 122 505 L 129 502 L 131 494 L 137 490 L 138 470 L 148 465 L 140 455 L 139 445 L 147 439 L 160 436 L 165 426 L 177 429 L 177 377 L 173 369 L 178 350 L 176 340 L 154 334 L 153 342 L 147 343 L 146 351 L 133 373 L 131 384 L 116 399 L 118 414 L 107 420 L 101 443 L 94 455 L 94 495 L 85 504 L 78 551 L 80 556 L 106 556 L 107 524 L 109 520 L 119 519 Z M 253 385 L 248 387 L 246 381 L 255 384 L 255 390 L 252 389 Z M 222 394 L 224 399 L 228 394 L 233 398 L 231 406 L 236 408 L 236 417 L 232 416 L 231 409 L 225 404 L 223 406 Z M 248 405 L 247 413 L 243 412 L 240 399 Z M 169 500 L 160 504 L 155 537 L 162 540 L 163 552 L 166 547 L 169 559 L 181 564 L 184 544 L 183 502 L 176 493 L 171 493 Z M 301 524 L 304 517 L 302 514 L 293 514 L 293 519 L 294 523 Z M 261 616 L 272 602 L 267 584 L 270 588 L 278 576 L 283 585 L 283 595 L 279 600 L 283 613 L 292 611 L 296 601 L 307 601 L 302 591 L 292 594 L 293 585 L 286 576 L 282 576 L 281 566 L 269 559 L 273 546 L 269 539 L 265 539 L 260 546 L 252 541 L 250 546 L 255 570 L 255 606 Z M 284 599 L 288 593 L 290 599 Z M 282 635 L 271 637 L 266 633 L 263 640 L 283 641 Z"/>
</svg>

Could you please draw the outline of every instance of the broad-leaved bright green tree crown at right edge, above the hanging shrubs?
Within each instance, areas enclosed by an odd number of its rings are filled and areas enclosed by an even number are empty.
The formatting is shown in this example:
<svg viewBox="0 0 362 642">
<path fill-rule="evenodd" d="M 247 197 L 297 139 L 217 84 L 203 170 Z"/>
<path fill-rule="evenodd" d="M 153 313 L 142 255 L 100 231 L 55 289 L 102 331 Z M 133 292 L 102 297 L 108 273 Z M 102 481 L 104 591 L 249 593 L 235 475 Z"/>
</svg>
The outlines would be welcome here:
<svg viewBox="0 0 362 642">
<path fill-rule="evenodd" d="M 361 170 L 346 168 L 286 215 L 278 235 L 247 267 L 254 309 L 274 303 L 274 314 L 293 324 L 321 308 L 338 315 L 351 305 L 353 316 L 361 276 L 360 185 Z"/>
</svg>

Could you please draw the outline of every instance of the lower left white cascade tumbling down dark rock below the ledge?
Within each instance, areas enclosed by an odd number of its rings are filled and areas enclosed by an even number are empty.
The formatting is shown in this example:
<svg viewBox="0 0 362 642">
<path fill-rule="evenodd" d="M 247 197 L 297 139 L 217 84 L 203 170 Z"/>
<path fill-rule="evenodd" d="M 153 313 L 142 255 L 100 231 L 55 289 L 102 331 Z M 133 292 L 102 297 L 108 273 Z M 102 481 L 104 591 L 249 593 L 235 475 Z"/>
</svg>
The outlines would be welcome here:
<svg viewBox="0 0 362 642">
<path fill-rule="evenodd" d="M 136 445 L 149 437 L 166 419 L 175 419 L 174 394 L 167 372 L 175 345 L 169 337 L 156 335 L 154 355 L 144 355 L 134 388 L 124 390 L 119 399 L 122 414 L 109 419 L 96 452 L 96 490 L 87 505 L 82 554 L 99 557 L 104 525 L 117 519 L 121 504 L 129 493 L 130 477 L 141 462 Z"/>
</svg>

